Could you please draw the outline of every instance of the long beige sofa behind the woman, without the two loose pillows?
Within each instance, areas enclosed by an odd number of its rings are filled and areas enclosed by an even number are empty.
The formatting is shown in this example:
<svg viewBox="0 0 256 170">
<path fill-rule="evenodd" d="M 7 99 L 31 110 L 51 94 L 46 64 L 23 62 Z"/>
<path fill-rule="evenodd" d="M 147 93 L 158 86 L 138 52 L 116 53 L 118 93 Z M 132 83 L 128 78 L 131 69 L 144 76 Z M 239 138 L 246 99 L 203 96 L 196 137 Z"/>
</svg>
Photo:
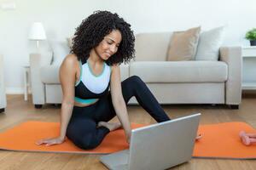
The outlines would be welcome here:
<svg viewBox="0 0 256 170">
<path fill-rule="evenodd" d="M 172 32 L 145 33 L 136 37 L 136 59 L 121 65 L 121 78 L 143 79 L 160 104 L 224 104 L 238 109 L 241 103 L 241 48 L 222 47 L 218 61 L 166 61 Z M 50 54 L 31 54 L 32 100 L 61 103 L 59 65 L 49 65 Z M 137 104 L 132 98 L 130 104 Z"/>
</svg>

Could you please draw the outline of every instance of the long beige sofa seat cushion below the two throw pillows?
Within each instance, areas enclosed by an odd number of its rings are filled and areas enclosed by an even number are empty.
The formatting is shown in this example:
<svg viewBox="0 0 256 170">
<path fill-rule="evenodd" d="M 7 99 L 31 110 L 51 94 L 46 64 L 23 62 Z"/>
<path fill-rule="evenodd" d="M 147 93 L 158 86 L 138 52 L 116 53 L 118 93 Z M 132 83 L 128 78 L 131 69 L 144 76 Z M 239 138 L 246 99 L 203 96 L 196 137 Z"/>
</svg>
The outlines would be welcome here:
<svg viewBox="0 0 256 170">
<path fill-rule="evenodd" d="M 224 82 L 228 65 L 222 61 L 137 61 L 130 65 L 130 76 L 144 82 Z"/>
</svg>

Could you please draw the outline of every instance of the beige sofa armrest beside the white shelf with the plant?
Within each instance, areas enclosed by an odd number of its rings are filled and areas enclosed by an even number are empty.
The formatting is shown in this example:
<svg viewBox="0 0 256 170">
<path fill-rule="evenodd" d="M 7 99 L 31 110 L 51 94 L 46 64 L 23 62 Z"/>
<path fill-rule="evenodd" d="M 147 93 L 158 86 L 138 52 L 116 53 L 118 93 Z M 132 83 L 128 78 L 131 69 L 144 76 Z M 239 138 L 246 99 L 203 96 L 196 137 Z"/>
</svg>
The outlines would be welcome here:
<svg viewBox="0 0 256 170">
<path fill-rule="evenodd" d="M 239 105 L 241 103 L 241 47 L 220 48 L 220 60 L 228 65 L 225 103 L 227 105 Z"/>
</svg>

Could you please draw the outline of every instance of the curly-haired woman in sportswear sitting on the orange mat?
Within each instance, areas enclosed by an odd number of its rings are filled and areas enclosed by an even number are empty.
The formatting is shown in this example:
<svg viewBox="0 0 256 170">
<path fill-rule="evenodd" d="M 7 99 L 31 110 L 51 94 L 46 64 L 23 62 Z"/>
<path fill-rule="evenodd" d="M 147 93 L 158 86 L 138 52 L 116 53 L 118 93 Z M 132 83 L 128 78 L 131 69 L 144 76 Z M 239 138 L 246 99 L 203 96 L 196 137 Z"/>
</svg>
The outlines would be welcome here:
<svg viewBox="0 0 256 170">
<path fill-rule="evenodd" d="M 94 149 L 110 131 L 121 126 L 129 143 L 131 126 L 126 105 L 132 96 L 157 122 L 170 120 L 139 77 L 120 82 L 119 64 L 128 62 L 135 53 L 130 27 L 118 14 L 108 11 L 96 11 L 82 21 L 71 54 L 60 68 L 60 136 L 41 139 L 37 144 L 61 144 L 67 136 L 81 149 Z M 119 122 L 108 122 L 114 116 Z"/>
</svg>

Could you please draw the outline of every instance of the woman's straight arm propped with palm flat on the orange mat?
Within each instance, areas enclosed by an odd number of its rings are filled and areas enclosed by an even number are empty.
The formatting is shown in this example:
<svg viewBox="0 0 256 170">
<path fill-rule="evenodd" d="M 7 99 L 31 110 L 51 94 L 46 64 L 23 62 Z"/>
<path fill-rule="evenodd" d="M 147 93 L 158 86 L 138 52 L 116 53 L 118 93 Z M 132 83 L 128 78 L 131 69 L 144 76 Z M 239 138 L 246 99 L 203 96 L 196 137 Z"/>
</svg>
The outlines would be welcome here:
<svg viewBox="0 0 256 170">
<path fill-rule="evenodd" d="M 69 54 L 63 60 L 60 67 L 60 80 L 63 98 L 61 102 L 61 130 L 60 135 L 54 139 L 41 139 L 37 144 L 61 144 L 66 137 L 67 125 L 73 111 L 74 104 L 74 84 L 76 81 L 77 59 L 74 55 Z"/>
</svg>

